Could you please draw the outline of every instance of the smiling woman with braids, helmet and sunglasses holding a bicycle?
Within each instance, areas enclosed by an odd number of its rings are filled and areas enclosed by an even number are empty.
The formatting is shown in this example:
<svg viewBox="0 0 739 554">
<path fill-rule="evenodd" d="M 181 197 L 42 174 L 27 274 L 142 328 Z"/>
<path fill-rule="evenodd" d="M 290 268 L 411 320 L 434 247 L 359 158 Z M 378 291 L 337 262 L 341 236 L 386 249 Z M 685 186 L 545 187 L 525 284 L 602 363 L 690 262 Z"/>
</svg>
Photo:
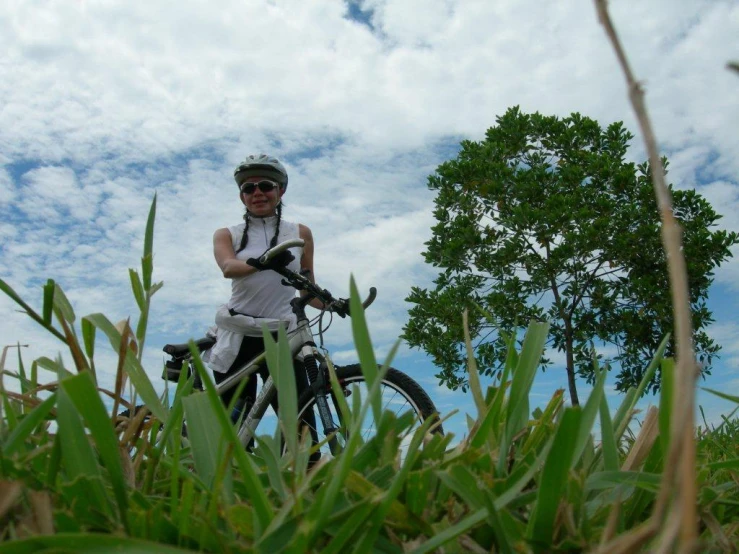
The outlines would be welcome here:
<svg viewBox="0 0 739 554">
<path fill-rule="evenodd" d="M 287 171 L 272 156 L 250 155 L 234 170 L 239 199 L 244 204 L 244 222 L 218 229 L 213 235 L 213 253 L 223 276 L 231 279 L 231 298 L 216 314 L 217 342 L 207 356 L 217 383 L 245 362 L 264 351 L 262 327 L 273 335 L 280 324 L 289 330 L 295 324 L 290 301 L 295 289 L 282 285 L 274 267 L 308 272 L 313 280 L 313 235 L 308 227 L 282 218 L 282 196 L 287 190 Z M 258 258 L 268 249 L 290 239 L 303 239 L 302 248 L 291 248 L 268 265 Z M 304 372 L 296 372 L 298 390 L 307 386 Z M 264 377 L 264 375 L 263 375 Z M 305 380 L 301 383 L 300 380 Z M 250 379 L 235 417 L 256 396 L 256 379 Z M 235 389 L 223 395 L 228 405 Z"/>
</svg>

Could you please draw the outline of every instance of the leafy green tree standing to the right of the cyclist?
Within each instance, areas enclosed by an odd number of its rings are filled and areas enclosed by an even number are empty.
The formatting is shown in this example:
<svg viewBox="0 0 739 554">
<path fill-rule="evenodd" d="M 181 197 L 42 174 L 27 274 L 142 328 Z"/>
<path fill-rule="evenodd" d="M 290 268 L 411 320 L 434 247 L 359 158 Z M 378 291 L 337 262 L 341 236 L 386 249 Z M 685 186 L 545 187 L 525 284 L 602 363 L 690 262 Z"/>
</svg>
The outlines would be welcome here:
<svg viewBox="0 0 739 554">
<path fill-rule="evenodd" d="M 610 361 L 620 390 L 638 383 L 673 317 L 649 165 L 626 161 L 633 135 L 620 122 L 602 129 L 577 113 L 559 119 L 518 107 L 496 123 L 485 140 L 462 142 L 428 179 L 438 223 L 424 256 L 440 274 L 435 287 L 414 287 L 406 298 L 413 306 L 405 339 L 457 388 L 466 385 L 464 308 L 486 375 L 501 367 L 506 335 L 529 319 L 548 319 L 573 404 L 576 376 L 593 377 L 593 343 L 615 345 Z M 739 236 L 714 228 L 721 216 L 694 190 L 672 194 L 695 349 L 710 373 L 720 346 L 703 330 L 712 321 L 708 288 Z M 657 375 L 650 389 L 659 383 Z"/>
</svg>

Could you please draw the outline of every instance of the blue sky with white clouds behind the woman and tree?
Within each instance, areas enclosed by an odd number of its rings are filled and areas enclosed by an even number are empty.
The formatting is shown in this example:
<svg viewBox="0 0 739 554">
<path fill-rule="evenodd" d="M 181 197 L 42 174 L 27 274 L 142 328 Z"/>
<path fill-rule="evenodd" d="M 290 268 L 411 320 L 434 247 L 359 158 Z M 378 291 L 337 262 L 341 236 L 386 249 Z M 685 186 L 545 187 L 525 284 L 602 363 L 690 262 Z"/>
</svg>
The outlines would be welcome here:
<svg viewBox="0 0 739 554">
<path fill-rule="evenodd" d="M 739 231 L 739 75 L 726 69 L 739 59 L 739 2 L 610 4 L 671 182 L 697 188 Z M 426 178 L 460 140 L 480 140 L 514 105 L 638 134 L 591 0 L 10 0 L 0 51 L 0 276 L 37 308 L 51 277 L 78 316 L 135 319 L 128 268 L 156 193 L 165 285 L 145 362 L 158 386 L 161 346 L 201 336 L 228 298 L 211 240 L 240 221 L 232 171 L 247 154 L 288 167 L 285 217 L 313 230 L 320 283 L 344 296 L 354 274 L 361 290 L 378 288 L 368 316 L 385 352 L 410 287 L 435 275 L 421 256 L 434 222 Z M 638 137 L 630 156 L 645 158 Z M 724 349 L 703 384 L 736 392 L 734 255 L 712 289 L 710 333 Z M 349 323 L 332 331 L 337 361 L 350 361 Z M 27 363 L 60 348 L 6 297 L 0 337 L 28 343 Z M 394 365 L 442 411 L 472 411 L 422 353 L 401 348 Z M 553 368 L 535 394 L 564 386 Z M 710 417 L 728 410 L 699 398 Z"/>
</svg>

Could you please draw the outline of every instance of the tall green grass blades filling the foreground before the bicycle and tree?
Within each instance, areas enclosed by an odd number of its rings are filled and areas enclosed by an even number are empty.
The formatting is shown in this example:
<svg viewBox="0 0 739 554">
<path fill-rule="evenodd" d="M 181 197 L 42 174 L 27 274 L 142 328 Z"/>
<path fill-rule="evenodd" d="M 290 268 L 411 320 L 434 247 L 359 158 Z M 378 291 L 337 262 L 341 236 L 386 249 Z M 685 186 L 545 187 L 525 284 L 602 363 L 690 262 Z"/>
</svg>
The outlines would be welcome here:
<svg viewBox="0 0 739 554">
<path fill-rule="evenodd" d="M 643 526 L 659 494 L 671 424 L 672 362 L 661 358 L 664 343 L 641 387 L 628 391 L 615 413 L 606 403 L 604 369 L 582 407 L 566 407 L 557 391 L 532 411 L 547 335 L 545 323 L 533 322 L 520 350 L 509 344 L 495 386 L 482 389 L 471 360 L 476 413 L 466 436 L 430 434 L 429 420 L 401 445 L 415 422 L 383 413 L 373 394 L 383 370 L 352 283 L 352 327 L 370 394 L 342 406 L 353 426 L 345 450 L 308 469 L 310 439 L 297 434 L 294 375 L 281 334 L 277 343 L 267 341 L 280 425 L 247 453 L 194 348 L 203 392 L 183 372 L 171 401 L 160 397 L 141 365 L 150 302 L 162 286 L 152 281 L 155 208 L 156 200 L 141 277 L 130 274 L 135 331 L 102 314 L 78 320 L 53 281 L 40 313 L 0 281 L 74 364 L 40 358 L 29 375 L 19 357 L 18 370 L 3 376 L 20 392 L 2 389 L 0 553 L 650 550 Z M 98 333 L 117 356 L 113 391 L 96 379 Z M 660 407 L 632 435 L 636 402 L 658 368 L 665 383 Z M 55 377 L 41 384 L 39 369 Z M 135 405 L 124 397 L 126 381 L 145 409 L 120 417 Z M 359 426 L 370 413 L 379 432 L 364 440 Z M 738 439 L 736 418 L 696 430 L 703 551 L 736 551 Z"/>
</svg>

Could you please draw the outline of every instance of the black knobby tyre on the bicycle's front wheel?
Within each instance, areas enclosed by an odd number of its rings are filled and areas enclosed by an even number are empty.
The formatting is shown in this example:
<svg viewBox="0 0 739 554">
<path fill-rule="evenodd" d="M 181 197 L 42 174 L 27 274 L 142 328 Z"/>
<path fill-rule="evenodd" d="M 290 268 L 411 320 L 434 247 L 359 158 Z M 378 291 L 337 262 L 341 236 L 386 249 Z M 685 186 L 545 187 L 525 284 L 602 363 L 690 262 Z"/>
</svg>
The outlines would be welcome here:
<svg viewBox="0 0 739 554">
<path fill-rule="evenodd" d="M 365 382 L 365 378 L 362 374 L 362 370 L 359 364 L 336 367 L 336 377 L 342 389 L 344 390 L 350 389 L 354 384 Z M 419 385 L 416 381 L 414 381 L 411 377 L 409 377 L 402 371 L 394 368 L 389 368 L 382 379 L 381 388 L 383 389 L 383 393 L 381 393 L 383 394 L 383 398 L 385 389 L 390 389 L 394 391 L 395 395 L 399 394 L 400 397 L 405 401 L 405 403 L 410 407 L 409 409 L 415 412 L 419 420 L 419 425 L 421 421 L 424 421 L 427 418 L 438 418 L 438 411 L 426 391 L 423 390 L 421 385 Z M 393 398 L 395 398 L 395 395 L 393 396 Z M 393 402 L 392 399 L 383 401 L 383 410 L 387 409 L 388 405 L 391 402 Z M 336 406 L 336 400 L 333 397 L 333 392 L 329 394 L 329 403 L 333 403 L 332 408 L 335 410 L 338 419 L 341 419 L 340 413 L 338 412 L 338 407 Z M 305 411 L 307 409 L 313 408 L 314 404 L 315 396 L 313 394 L 313 391 L 308 390 L 303 392 L 298 401 L 298 421 L 300 421 L 301 418 L 304 417 Z M 401 410 L 401 408 L 397 408 L 394 411 L 396 412 L 396 415 L 399 415 L 403 410 Z M 317 415 L 316 420 L 320 421 Z M 318 426 L 320 426 L 320 423 Z M 322 429 L 317 430 L 319 434 L 321 434 L 322 431 Z M 443 435 L 444 430 L 442 428 L 442 425 L 436 425 L 432 429 L 432 432 Z"/>
</svg>

